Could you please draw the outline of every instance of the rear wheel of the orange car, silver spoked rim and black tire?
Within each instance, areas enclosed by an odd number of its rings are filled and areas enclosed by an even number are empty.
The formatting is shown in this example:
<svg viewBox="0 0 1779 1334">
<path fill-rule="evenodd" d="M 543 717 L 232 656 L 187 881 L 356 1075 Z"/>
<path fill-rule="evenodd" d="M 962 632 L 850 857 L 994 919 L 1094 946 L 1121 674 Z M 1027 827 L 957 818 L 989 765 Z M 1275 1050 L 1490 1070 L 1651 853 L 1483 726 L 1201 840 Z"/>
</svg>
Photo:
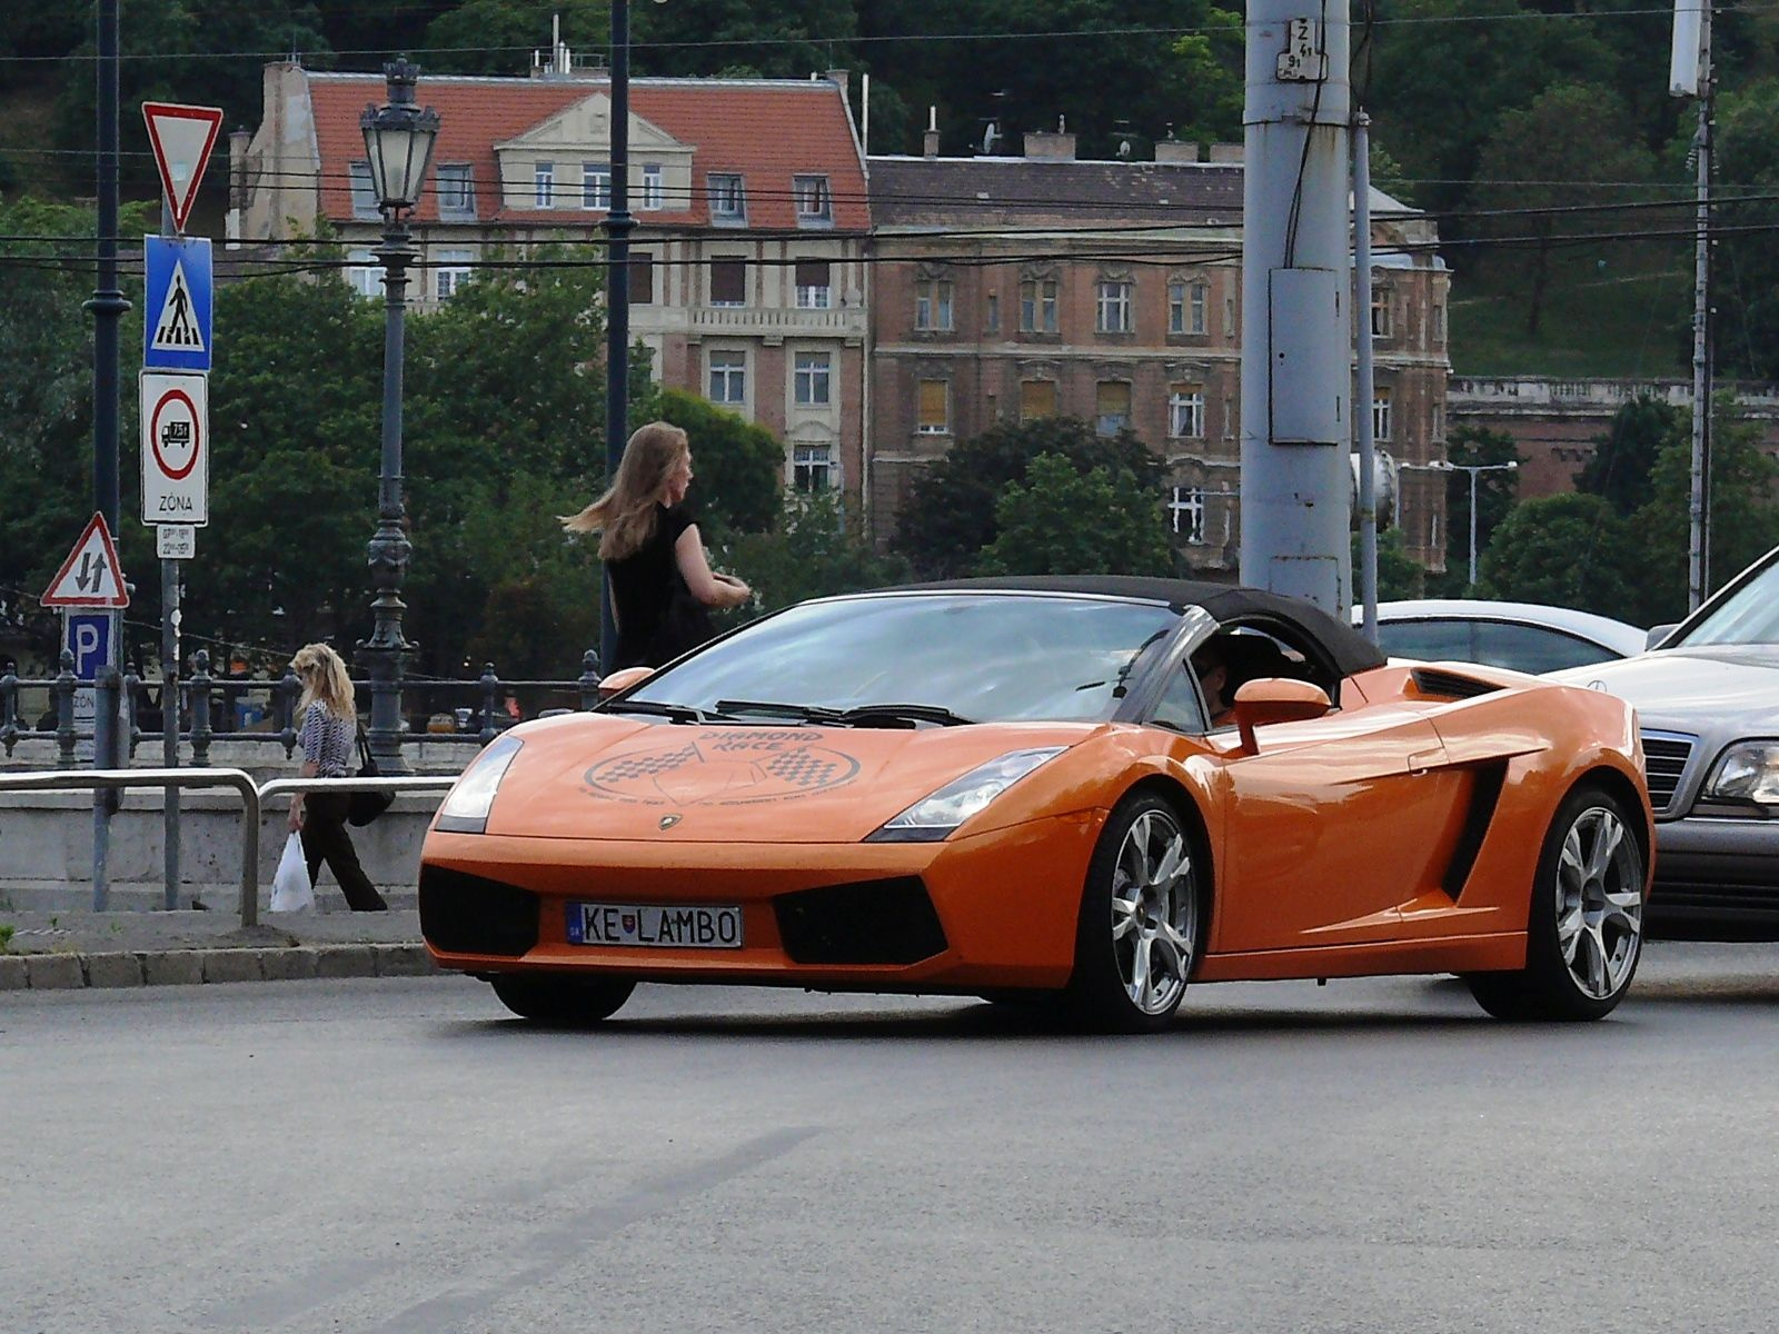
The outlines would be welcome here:
<svg viewBox="0 0 1779 1334">
<path fill-rule="evenodd" d="M 1526 966 L 1464 980 L 1496 1019 L 1603 1019 L 1624 1000 L 1644 944 L 1644 847 L 1624 800 L 1571 792 L 1544 836 Z"/>
</svg>

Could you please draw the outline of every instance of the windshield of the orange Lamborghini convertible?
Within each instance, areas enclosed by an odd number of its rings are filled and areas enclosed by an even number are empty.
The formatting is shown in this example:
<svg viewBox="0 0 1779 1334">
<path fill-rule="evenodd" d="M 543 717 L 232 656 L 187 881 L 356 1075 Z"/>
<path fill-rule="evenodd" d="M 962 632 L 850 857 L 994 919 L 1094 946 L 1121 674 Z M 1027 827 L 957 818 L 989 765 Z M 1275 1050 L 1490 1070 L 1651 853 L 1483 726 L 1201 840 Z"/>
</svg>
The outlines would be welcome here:
<svg viewBox="0 0 1779 1334">
<path fill-rule="evenodd" d="M 630 699 L 735 717 L 767 713 L 737 706 L 745 701 L 811 713 L 920 704 L 968 722 L 1096 720 L 1112 717 L 1142 651 L 1178 623 L 1167 607 L 1087 596 L 836 598 L 712 644 Z"/>
</svg>

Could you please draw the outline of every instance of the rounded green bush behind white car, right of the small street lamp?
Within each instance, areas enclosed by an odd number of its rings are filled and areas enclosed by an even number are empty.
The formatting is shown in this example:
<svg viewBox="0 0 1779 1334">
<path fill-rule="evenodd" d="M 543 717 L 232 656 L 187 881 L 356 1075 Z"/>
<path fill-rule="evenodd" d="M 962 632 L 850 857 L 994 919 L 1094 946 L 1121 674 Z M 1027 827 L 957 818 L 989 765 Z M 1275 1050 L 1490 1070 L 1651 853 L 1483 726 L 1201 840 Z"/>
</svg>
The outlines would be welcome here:
<svg viewBox="0 0 1779 1334">
<path fill-rule="evenodd" d="M 1640 551 L 1631 525 L 1599 496 L 1523 500 L 1494 530 L 1477 592 L 1633 621 Z"/>
</svg>

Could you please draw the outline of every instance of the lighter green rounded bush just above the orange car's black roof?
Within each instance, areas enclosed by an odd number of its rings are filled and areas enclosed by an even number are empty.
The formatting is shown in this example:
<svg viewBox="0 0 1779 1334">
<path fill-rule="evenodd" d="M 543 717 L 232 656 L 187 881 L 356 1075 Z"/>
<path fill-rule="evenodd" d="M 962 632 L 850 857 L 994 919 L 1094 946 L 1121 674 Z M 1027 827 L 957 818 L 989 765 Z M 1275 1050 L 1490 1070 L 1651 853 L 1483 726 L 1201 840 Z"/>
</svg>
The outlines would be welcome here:
<svg viewBox="0 0 1779 1334">
<path fill-rule="evenodd" d="M 977 575 L 1172 575 L 1174 548 L 1155 486 L 1124 466 L 1078 471 L 1041 454 L 994 505 L 996 537 Z"/>
</svg>

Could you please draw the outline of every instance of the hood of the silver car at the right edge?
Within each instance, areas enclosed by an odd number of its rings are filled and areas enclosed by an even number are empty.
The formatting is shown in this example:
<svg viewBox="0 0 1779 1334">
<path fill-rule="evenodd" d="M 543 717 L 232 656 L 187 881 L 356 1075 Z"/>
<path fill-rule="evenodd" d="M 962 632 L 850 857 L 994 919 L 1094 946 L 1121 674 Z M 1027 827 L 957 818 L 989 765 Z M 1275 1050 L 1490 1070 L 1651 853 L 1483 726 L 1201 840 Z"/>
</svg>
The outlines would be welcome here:
<svg viewBox="0 0 1779 1334">
<path fill-rule="evenodd" d="M 1770 644 L 1662 649 L 1546 679 L 1619 695 L 1646 724 L 1738 719 L 1742 731 L 1779 729 L 1779 647 Z"/>
</svg>

